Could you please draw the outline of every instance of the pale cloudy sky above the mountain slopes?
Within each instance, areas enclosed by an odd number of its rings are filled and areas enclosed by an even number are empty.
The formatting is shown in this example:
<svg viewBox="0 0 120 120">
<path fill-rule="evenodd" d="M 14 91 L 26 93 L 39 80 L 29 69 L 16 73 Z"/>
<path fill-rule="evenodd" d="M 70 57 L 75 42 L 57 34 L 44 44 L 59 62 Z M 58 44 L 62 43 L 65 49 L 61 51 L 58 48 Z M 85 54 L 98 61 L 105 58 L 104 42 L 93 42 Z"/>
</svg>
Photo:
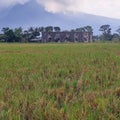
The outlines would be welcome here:
<svg viewBox="0 0 120 120">
<path fill-rule="evenodd" d="M 30 0 L 0 0 L 0 10 Z M 77 14 L 79 12 L 120 19 L 120 0 L 35 0 L 52 13 Z"/>
</svg>

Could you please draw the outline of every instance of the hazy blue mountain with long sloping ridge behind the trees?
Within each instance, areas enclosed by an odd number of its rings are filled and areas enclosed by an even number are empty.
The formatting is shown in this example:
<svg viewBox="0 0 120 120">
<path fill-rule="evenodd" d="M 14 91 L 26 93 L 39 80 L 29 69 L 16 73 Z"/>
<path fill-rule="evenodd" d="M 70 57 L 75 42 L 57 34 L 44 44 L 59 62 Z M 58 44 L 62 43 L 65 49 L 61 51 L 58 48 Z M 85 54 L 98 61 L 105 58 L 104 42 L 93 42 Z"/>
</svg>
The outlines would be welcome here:
<svg viewBox="0 0 120 120">
<path fill-rule="evenodd" d="M 0 12 L 0 28 L 6 26 L 22 26 L 26 28 L 30 26 L 53 25 L 60 26 L 65 30 L 91 25 L 94 28 L 95 34 L 97 34 L 99 27 L 103 24 L 110 24 L 112 29 L 115 30 L 120 25 L 120 20 L 85 13 L 74 15 L 52 14 L 46 12 L 35 1 L 28 2 L 24 5 L 16 5 L 12 9 Z"/>
</svg>

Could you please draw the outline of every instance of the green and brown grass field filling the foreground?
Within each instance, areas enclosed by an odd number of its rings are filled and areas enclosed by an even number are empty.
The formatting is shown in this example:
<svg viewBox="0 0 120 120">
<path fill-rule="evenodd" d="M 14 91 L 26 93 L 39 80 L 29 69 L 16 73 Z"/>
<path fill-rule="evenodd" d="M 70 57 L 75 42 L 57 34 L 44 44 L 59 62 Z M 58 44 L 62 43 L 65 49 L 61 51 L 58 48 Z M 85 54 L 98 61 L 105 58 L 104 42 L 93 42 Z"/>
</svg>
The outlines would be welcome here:
<svg viewBox="0 0 120 120">
<path fill-rule="evenodd" d="M 120 44 L 0 44 L 0 120 L 120 120 Z"/>
</svg>

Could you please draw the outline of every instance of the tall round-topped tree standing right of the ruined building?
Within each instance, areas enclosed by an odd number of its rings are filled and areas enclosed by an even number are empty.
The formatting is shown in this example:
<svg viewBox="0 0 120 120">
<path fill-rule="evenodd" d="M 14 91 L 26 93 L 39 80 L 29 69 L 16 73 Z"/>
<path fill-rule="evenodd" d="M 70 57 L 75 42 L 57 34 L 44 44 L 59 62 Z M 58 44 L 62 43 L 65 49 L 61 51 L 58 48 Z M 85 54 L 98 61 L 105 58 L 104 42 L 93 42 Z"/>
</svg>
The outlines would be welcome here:
<svg viewBox="0 0 120 120">
<path fill-rule="evenodd" d="M 111 27 L 110 25 L 102 25 L 99 29 L 102 32 L 103 40 L 112 40 Z"/>
</svg>

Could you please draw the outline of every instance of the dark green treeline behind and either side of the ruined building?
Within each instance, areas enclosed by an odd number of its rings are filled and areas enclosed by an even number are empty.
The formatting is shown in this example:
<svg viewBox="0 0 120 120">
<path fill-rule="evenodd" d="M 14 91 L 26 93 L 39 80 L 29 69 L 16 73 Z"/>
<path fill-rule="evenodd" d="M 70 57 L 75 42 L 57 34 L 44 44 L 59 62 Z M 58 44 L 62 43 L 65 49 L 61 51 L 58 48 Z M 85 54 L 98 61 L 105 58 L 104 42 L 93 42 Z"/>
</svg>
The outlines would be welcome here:
<svg viewBox="0 0 120 120">
<path fill-rule="evenodd" d="M 102 25 L 99 28 L 101 35 L 94 36 L 94 41 L 120 41 L 120 28 L 116 30 L 116 33 L 111 33 L 110 25 Z M 66 30 L 68 31 L 68 30 Z M 92 26 L 84 26 L 76 29 L 72 29 L 73 32 L 93 32 Z M 2 28 L 0 34 L 0 42 L 31 42 L 32 39 L 40 39 L 42 32 L 61 32 L 61 28 L 56 26 L 47 27 L 30 27 L 27 30 L 23 30 L 21 27 L 11 29 L 9 27 Z M 69 31 L 68 31 L 69 32 Z"/>
</svg>

